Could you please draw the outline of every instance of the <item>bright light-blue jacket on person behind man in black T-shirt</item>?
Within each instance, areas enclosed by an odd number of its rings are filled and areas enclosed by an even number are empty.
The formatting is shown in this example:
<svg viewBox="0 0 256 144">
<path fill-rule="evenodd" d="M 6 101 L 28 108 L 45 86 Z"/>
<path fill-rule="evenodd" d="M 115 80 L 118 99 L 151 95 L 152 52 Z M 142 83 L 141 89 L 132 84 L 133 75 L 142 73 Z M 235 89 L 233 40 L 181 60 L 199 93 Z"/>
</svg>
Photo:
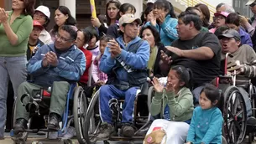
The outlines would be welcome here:
<svg viewBox="0 0 256 144">
<path fill-rule="evenodd" d="M 155 28 L 160 34 L 160 39 L 162 44 L 165 46 L 170 46 L 173 41 L 178 39 L 178 33 L 176 26 L 178 24 L 178 20 L 176 18 L 170 18 L 168 14 L 165 17 L 165 22 L 161 25 L 156 24 Z M 150 22 L 146 23 L 146 25 L 152 25 Z"/>
</svg>

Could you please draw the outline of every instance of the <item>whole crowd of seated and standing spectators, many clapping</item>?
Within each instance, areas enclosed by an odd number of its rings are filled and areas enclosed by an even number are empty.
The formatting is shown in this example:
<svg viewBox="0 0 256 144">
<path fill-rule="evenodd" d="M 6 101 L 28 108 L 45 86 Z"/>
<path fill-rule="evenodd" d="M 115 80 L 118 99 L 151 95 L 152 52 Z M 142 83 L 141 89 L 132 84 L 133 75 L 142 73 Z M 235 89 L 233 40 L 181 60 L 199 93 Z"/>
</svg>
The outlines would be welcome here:
<svg viewBox="0 0 256 144">
<path fill-rule="evenodd" d="M 256 20 L 226 3 L 217 5 L 211 23 L 203 3 L 176 15 L 169 1 L 149 1 L 136 18 L 139 12 L 133 4 L 109 0 L 106 17 L 91 18 L 91 26 L 82 29 L 76 28 L 69 8 L 60 6 L 54 13 L 55 26 L 48 30 L 49 8 L 34 9 L 35 0 L 12 2 L 12 11 L 0 8 L 0 139 L 4 131 L 28 128 L 29 112 L 21 97 L 33 97 L 49 87 L 47 126 L 44 116 L 34 116 L 30 128 L 59 130 L 67 92 L 77 83 L 87 97 L 100 91 L 99 140 L 115 133 L 109 101 L 124 99 L 121 136 L 134 136 L 133 115 L 150 112 L 149 126 L 138 132 L 145 143 L 152 143 L 153 131 L 165 131 L 169 144 L 222 143 L 222 90 L 212 81 L 223 74 L 227 53 L 232 54 L 229 63 L 240 61 L 239 90 L 252 116 L 244 87 L 256 76 Z M 256 14 L 256 1 L 246 5 Z M 159 82 L 161 77 L 167 77 L 165 84 Z M 145 111 L 147 100 L 142 96 L 138 113 L 133 114 L 138 93 L 147 94 L 145 85 L 154 86 L 152 104 Z M 12 127 L 14 100 L 17 116 Z M 162 129 L 154 130 L 157 126 Z M 167 135 L 169 131 L 182 132 Z M 67 135 L 74 136 L 74 131 Z"/>
</svg>

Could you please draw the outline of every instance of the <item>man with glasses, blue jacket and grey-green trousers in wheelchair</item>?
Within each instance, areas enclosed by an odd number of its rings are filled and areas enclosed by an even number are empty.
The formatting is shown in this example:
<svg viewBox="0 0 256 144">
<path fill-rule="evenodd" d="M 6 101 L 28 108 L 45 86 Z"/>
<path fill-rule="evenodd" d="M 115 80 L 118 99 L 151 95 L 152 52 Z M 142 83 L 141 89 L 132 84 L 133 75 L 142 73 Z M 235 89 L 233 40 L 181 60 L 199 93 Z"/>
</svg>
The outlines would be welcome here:
<svg viewBox="0 0 256 144">
<path fill-rule="evenodd" d="M 45 44 L 29 60 L 27 69 L 31 75 L 31 82 L 24 82 L 18 86 L 16 102 L 16 121 L 14 131 L 27 129 L 29 112 L 24 103 L 40 93 L 40 90 L 51 87 L 49 130 L 58 130 L 66 97 L 71 83 L 80 80 L 86 67 L 86 59 L 81 50 L 74 45 L 76 40 L 74 26 L 64 25 L 56 34 L 54 44 Z M 24 103 L 21 101 L 23 95 Z"/>
</svg>

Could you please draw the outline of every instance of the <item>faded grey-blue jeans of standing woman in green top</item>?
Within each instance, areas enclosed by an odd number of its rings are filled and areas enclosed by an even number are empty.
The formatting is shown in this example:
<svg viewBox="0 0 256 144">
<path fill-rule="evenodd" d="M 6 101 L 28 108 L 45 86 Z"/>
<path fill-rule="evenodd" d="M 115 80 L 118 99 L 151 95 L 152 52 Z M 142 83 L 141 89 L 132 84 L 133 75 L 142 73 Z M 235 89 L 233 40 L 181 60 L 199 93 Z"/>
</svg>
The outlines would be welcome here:
<svg viewBox="0 0 256 144">
<path fill-rule="evenodd" d="M 27 79 L 26 64 L 26 56 L 0 57 L 0 137 L 4 136 L 8 82 L 12 81 L 14 98 L 16 98 L 18 85 Z"/>
</svg>

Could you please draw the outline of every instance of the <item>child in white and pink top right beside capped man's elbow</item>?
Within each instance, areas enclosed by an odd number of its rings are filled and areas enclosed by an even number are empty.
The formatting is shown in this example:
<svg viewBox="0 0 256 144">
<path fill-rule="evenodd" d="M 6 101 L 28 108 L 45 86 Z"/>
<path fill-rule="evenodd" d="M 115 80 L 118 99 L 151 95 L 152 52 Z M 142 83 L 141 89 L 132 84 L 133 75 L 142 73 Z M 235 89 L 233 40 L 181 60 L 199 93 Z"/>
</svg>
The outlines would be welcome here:
<svg viewBox="0 0 256 144">
<path fill-rule="evenodd" d="M 107 74 L 103 73 L 99 69 L 99 65 L 101 63 L 102 55 L 104 54 L 105 48 L 107 47 L 107 42 L 112 39 L 111 37 L 104 35 L 100 39 L 100 52 L 101 54 L 98 54 L 95 60 L 93 61 L 92 68 L 91 68 L 91 75 L 92 79 L 95 81 L 97 86 L 105 85 L 107 82 Z"/>
</svg>

